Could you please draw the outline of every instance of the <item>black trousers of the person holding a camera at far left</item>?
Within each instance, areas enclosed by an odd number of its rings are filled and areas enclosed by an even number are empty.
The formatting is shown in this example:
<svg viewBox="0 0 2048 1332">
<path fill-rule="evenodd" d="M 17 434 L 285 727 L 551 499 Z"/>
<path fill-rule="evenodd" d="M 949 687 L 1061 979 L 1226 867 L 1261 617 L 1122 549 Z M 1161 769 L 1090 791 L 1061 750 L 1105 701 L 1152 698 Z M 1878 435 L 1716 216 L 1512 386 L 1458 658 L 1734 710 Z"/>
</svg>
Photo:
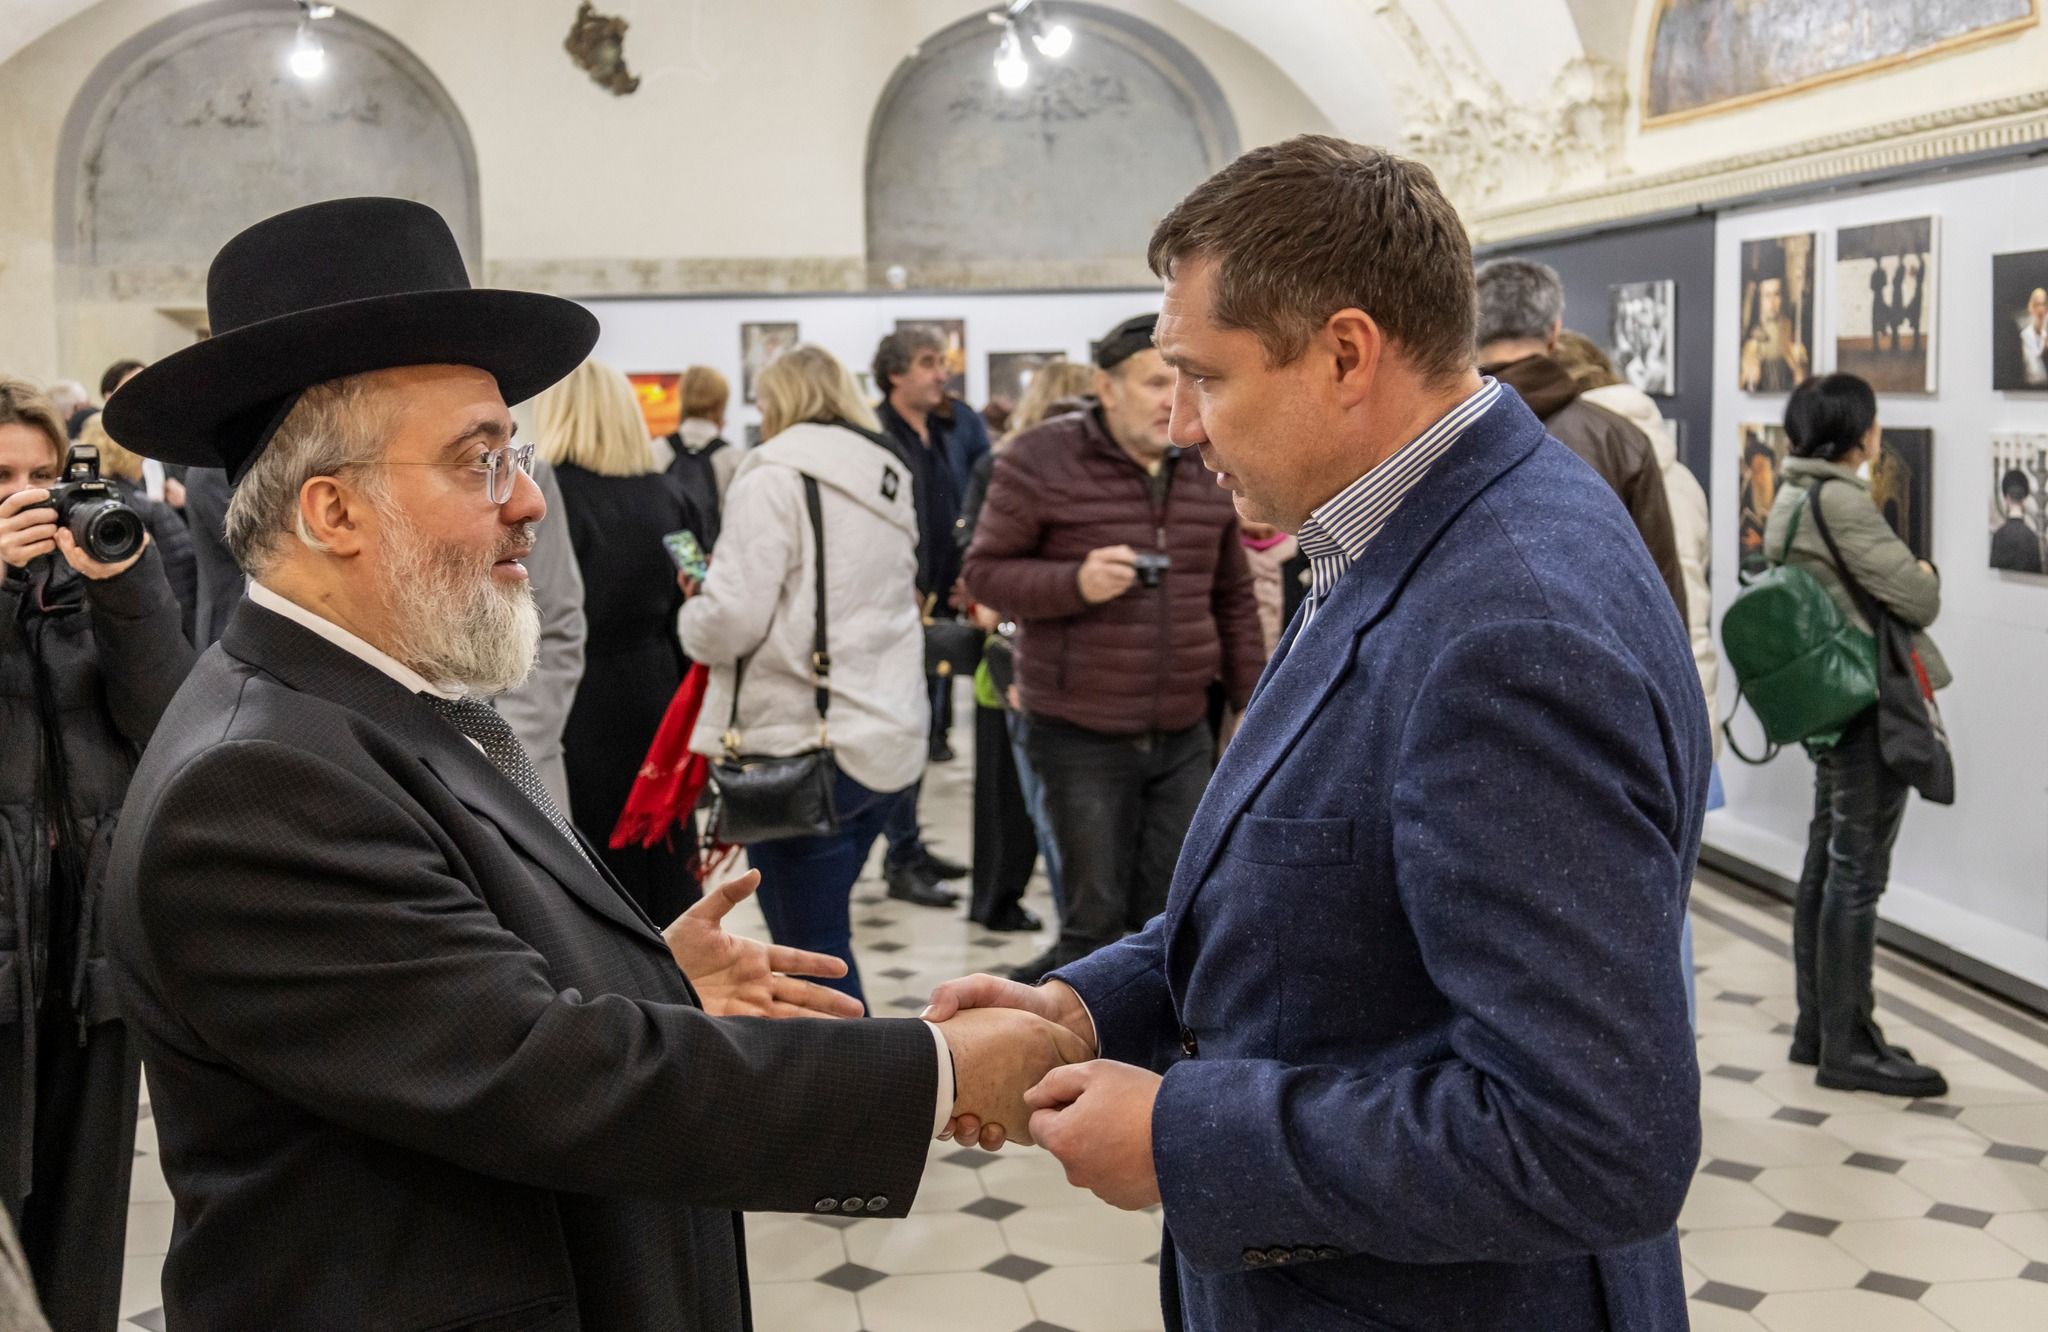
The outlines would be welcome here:
<svg viewBox="0 0 2048 1332">
<path fill-rule="evenodd" d="M 55 986 L 53 986 L 55 988 Z M 53 1332 L 106 1332 L 121 1314 L 141 1057 L 125 1023 L 78 1041 L 59 994 L 37 1014 L 35 1166 L 20 1248 Z"/>
</svg>

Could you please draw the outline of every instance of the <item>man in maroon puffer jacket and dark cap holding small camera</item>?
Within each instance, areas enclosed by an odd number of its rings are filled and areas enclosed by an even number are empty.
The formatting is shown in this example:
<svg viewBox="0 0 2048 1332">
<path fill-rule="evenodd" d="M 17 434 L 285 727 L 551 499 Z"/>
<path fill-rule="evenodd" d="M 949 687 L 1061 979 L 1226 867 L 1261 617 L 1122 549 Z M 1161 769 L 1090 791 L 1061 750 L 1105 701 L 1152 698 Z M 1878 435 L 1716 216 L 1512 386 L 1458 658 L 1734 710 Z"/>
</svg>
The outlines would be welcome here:
<svg viewBox="0 0 2048 1332">
<path fill-rule="evenodd" d="M 967 551 L 969 592 L 1020 627 L 1024 748 L 1067 889 L 1059 943 L 1016 980 L 1165 908 L 1214 758 L 1208 686 L 1243 709 L 1266 662 L 1231 496 L 1167 441 L 1155 322 L 1100 342 L 1098 408 L 1010 443 Z"/>
</svg>

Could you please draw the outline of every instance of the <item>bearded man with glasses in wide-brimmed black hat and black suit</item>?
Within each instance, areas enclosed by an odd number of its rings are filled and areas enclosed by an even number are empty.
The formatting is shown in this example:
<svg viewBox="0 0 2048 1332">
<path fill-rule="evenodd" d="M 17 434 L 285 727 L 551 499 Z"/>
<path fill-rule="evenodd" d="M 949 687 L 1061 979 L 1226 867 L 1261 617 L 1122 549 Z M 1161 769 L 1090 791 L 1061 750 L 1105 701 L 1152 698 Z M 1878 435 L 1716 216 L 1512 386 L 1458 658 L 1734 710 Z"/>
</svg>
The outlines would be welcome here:
<svg viewBox="0 0 2048 1332">
<path fill-rule="evenodd" d="M 258 223 L 207 305 L 215 336 L 109 414 L 238 480 L 250 578 L 104 900 L 178 1203 L 170 1326 L 733 1332 L 737 1209 L 903 1215 L 948 1113 L 1022 1125 L 1065 1031 L 727 1021 L 858 1004 L 791 975 L 842 963 L 723 932 L 752 877 L 649 922 L 487 703 L 539 635 L 506 404 L 596 320 L 471 291 L 395 199 Z"/>
</svg>

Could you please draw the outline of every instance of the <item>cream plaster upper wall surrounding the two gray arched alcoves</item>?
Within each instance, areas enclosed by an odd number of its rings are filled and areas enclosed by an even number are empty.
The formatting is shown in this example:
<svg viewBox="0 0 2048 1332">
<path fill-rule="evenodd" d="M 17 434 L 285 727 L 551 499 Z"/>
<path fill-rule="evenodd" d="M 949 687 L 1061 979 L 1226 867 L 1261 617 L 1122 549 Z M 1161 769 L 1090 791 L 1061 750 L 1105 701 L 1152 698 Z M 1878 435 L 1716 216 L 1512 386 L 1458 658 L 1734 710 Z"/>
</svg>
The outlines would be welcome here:
<svg viewBox="0 0 2048 1332">
<path fill-rule="evenodd" d="M 154 311 L 106 316 L 59 346 L 51 199 L 66 113 L 92 68 L 199 0 L 100 0 L 0 64 L 0 367 L 96 375 L 188 336 Z M 1329 121 L 1272 61 L 1178 0 L 1108 0 L 1180 39 L 1223 86 L 1245 145 Z M 45 6 L 47 8 L 47 6 Z M 641 76 L 614 98 L 561 51 L 561 0 L 352 0 L 403 41 L 467 119 L 485 262 L 811 260 L 864 252 L 868 117 L 926 35 L 973 0 L 633 0 Z M 991 37 L 993 41 L 993 37 Z M 993 53 L 993 45 L 991 45 Z M 170 201 L 168 205 L 172 205 Z"/>
</svg>

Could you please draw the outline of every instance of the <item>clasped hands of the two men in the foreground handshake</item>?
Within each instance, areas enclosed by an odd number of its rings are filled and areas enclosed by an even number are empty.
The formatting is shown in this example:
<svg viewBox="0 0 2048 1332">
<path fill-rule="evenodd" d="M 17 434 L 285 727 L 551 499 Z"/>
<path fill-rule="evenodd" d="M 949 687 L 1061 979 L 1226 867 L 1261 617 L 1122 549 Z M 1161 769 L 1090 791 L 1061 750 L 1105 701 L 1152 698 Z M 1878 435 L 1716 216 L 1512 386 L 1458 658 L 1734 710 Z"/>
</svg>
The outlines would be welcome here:
<svg viewBox="0 0 2048 1332">
<path fill-rule="evenodd" d="M 989 1152 L 1040 1146 L 1069 1184 L 1112 1207 L 1159 1201 L 1151 1117 L 1161 1078 L 1096 1057 L 1096 1023 L 1071 986 L 969 975 L 934 990 L 922 1016 L 952 1047 L 952 1137 Z"/>
</svg>

